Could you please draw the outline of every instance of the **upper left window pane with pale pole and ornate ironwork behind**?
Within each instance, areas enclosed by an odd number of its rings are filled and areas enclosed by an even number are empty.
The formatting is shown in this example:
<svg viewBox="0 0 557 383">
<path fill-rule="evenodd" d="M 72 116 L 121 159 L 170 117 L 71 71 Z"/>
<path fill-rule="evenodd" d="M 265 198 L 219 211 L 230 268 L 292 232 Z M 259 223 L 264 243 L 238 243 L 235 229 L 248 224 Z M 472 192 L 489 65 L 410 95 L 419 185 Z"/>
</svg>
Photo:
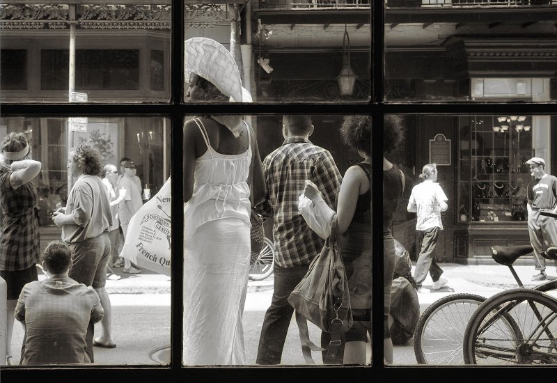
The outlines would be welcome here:
<svg viewBox="0 0 557 383">
<path fill-rule="evenodd" d="M 65 102 L 74 91 L 88 102 L 168 102 L 164 3 L 6 5 L 1 101 Z"/>
</svg>

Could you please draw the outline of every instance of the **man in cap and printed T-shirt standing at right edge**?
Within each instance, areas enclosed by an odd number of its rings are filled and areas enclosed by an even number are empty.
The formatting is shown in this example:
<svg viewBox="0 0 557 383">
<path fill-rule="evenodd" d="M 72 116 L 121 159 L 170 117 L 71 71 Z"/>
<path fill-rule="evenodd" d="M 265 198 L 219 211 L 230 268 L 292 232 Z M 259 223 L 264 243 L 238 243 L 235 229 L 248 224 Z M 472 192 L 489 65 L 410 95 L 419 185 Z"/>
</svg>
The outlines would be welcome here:
<svg viewBox="0 0 557 383">
<path fill-rule="evenodd" d="M 544 281 L 547 275 L 545 258 L 541 253 L 547 247 L 557 246 L 557 220 L 540 215 L 540 210 L 552 210 L 557 213 L 557 178 L 545 173 L 543 158 L 532 157 L 526 164 L 530 166 L 534 178 L 528 184 L 528 234 L 534 248 L 535 269 L 539 270 L 539 273 L 532 277 L 532 281 Z"/>
</svg>

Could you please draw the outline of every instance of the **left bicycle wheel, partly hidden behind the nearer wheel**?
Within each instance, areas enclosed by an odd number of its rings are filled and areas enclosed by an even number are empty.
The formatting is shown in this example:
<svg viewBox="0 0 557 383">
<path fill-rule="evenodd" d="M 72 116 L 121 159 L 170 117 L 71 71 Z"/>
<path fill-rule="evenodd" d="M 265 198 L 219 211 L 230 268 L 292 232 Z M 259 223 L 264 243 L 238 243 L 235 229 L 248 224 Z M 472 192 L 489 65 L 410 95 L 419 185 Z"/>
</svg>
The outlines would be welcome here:
<svg viewBox="0 0 557 383">
<path fill-rule="evenodd" d="M 414 331 L 414 354 L 419 364 L 464 364 L 462 339 L 468 320 L 485 297 L 448 295 L 423 312 Z"/>
</svg>

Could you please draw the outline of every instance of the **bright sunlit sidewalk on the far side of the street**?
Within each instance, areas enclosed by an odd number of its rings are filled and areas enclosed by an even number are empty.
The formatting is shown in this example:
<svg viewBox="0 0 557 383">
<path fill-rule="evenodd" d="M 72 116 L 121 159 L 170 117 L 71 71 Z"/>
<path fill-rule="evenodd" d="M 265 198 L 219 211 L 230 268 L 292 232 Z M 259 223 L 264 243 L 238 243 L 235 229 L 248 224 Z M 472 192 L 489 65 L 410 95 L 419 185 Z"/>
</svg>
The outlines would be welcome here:
<svg viewBox="0 0 557 383">
<path fill-rule="evenodd" d="M 443 263 L 444 276 L 448 277 L 449 283 L 440 290 L 432 290 L 431 294 L 419 294 L 422 297 L 432 295 L 439 298 L 438 292 L 472 292 L 483 295 L 492 295 L 501 290 L 517 288 L 517 283 L 510 270 L 502 265 L 460 265 L 457 263 Z M 515 270 L 524 286 L 532 288 L 543 281 L 531 281 L 533 274 L 537 274 L 534 266 L 515 266 Z M 143 269 L 141 274 L 125 274 L 122 268 L 115 268 L 114 273 L 120 279 L 107 279 L 107 291 L 109 294 L 166 294 L 171 292 L 171 278 L 166 275 L 156 274 Z M 557 271 L 553 265 L 547 267 L 547 278 L 557 279 Z M 263 281 L 249 281 L 248 292 L 259 292 L 271 290 L 273 286 L 273 276 L 269 276 Z M 432 280 L 427 276 L 423 286 L 432 287 Z M 482 294 L 480 294 L 482 295 Z"/>
</svg>

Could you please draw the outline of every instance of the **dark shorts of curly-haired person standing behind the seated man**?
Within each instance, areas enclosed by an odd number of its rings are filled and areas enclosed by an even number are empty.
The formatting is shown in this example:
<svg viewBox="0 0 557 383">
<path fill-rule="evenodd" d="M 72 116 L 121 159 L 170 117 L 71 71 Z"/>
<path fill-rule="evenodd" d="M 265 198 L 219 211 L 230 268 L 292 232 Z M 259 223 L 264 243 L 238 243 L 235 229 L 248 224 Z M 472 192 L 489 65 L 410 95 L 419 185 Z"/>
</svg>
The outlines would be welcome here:
<svg viewBox="0 0 557 383">
<path fill-rule="evenodd" d="M 93 288 L 107 285 L 107 260 L 110 255 L 110 240 L 107 233 L 70 244 L 73 265 L 70 278 Z"/>
</svg>

